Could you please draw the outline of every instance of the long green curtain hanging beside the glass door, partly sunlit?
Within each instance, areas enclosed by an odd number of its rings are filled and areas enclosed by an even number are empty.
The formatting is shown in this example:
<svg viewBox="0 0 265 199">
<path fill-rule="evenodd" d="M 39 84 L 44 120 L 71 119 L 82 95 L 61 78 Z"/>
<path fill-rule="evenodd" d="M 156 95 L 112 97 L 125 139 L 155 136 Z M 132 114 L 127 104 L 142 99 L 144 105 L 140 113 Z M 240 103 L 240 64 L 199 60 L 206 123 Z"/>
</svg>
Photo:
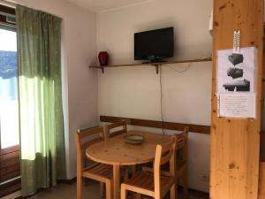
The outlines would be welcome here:
<svg viewBox="0 0 265 199">
<path fill-rule="evenodd" d="M 17 6 L 21 191 L 65 177 L 61 19 Z"/>
</svg>

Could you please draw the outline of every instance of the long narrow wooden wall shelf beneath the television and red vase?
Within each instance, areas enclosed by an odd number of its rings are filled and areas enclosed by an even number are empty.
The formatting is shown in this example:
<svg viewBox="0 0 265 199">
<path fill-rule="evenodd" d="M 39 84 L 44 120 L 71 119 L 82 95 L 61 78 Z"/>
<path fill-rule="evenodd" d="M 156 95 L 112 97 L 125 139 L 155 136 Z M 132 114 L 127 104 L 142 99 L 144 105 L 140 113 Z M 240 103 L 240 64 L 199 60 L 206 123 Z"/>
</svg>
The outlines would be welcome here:
<svg viewBox="0 0 265 199">
<path fill-rule="evenodd" d="M 194 63 L 194 62 L 209 62 L 212 61 L 212 58 L 202 58 L 202 59 L 188 59 L 188 60 L 179 60 L 179 61 L 169 61 L 169 62 L 157 62 L 157 63 L 147 63 L 147 64 L 126 64 L 126 65 L 104 65 L 104 66 L 95 66 L 91 65 L 89 68 L 101 69 L 102 73 L 104 73 L 105 68 L 110 67 L 124 67 L 124 66 L 142 66 L 142 65 L 150 65 L 155 66 L 156 73 L 159 72 L 159 65 L 172 65 L 172 64 L 183 64 L 183 63 Z"/>
</svg>

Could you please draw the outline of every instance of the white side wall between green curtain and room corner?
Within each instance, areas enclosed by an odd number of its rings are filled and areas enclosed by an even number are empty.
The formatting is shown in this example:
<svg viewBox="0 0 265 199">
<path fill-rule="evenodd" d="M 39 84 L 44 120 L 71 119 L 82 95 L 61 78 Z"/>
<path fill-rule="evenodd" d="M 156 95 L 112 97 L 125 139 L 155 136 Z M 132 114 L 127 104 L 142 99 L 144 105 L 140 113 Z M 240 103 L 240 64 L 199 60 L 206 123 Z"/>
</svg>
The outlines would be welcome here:
<svg viewBox="0 0 265 199">
<path fill-rule="evenodd" d="M 64 0 L 16 0 L 63 19 L 63 98 L 67 178 L 76 176 L 73 133 L 98 124 L 97 75 L 88 70 L 96 54 L 96 15 Z"/>
</svg>

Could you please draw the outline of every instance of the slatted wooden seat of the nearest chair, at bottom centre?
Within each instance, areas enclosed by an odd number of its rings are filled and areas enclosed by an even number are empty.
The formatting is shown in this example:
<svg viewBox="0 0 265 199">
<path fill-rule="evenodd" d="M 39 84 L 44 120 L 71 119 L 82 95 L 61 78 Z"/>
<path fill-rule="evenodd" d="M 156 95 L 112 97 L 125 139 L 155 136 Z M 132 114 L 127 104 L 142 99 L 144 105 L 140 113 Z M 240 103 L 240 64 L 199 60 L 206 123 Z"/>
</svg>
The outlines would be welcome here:
<svg viewBox="0 0 265 199">
<path fill-rule="evenodd" d="M 169 188 L 174 184 L 174 178 L 161 176 L 161 188 L 162 190 L 169 190 Z M 135 191 L 137 193 L 155 196 L 155 182 L 154 175 L 150 172 L 136 172 L 133 178 L 125 182 L 125 187 L 127 190 Z M 164 195 L 166 193 L 162 193 Z"/>
</svg>

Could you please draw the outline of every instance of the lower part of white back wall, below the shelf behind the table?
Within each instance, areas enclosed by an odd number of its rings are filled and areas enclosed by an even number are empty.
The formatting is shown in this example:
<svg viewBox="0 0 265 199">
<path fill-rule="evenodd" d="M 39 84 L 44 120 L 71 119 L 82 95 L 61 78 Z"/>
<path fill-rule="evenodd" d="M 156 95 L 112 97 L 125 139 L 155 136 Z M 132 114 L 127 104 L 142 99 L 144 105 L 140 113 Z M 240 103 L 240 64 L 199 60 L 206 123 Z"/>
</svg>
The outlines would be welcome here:
<svg viewBox="0 0 265 199">
<path fill-rule="evenodd" d="M 187 64 L 172 67 L 185 70 Z M 148 66 L 107 69 L 104 74 L 99 73 L 99 114 L 161 120 L 159 77 L 155 68 Z M 185 73 L 163 66 L 162 85 L 165 121 L 210 125 L 211 62 L 194 63 Z M 130 128 L 162 133 L 155 128 Z M 208 173 L 209 135 L 191 133 L 189 187 L 208 192 Z"/>
</svg>

